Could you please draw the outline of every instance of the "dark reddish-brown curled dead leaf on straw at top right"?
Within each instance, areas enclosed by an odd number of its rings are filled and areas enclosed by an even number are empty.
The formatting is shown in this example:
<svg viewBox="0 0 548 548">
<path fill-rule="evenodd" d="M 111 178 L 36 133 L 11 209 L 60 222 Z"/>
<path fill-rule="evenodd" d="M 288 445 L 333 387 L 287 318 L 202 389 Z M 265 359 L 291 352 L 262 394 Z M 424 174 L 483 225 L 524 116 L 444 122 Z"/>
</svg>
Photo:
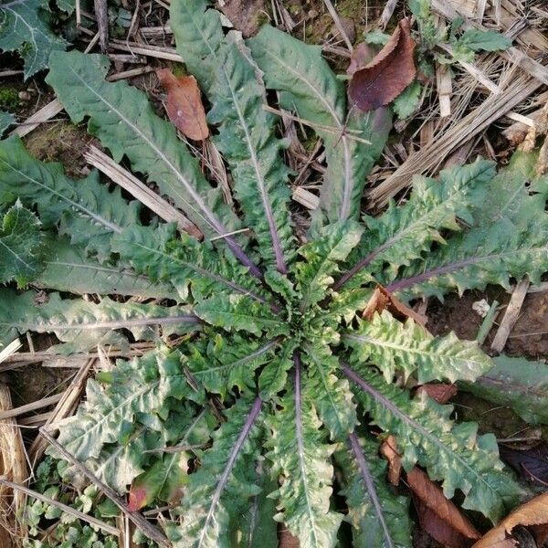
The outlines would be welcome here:
<svg viewBox="0 0 548 548">
<path fill-rule="evenodd" d="M 415 46 L 409 19 L 402 19 L 385 47 L 353 73 L 348 93 L 359 109 L 373 111 L 387 105 L 415 79 Z"/>
</svg>

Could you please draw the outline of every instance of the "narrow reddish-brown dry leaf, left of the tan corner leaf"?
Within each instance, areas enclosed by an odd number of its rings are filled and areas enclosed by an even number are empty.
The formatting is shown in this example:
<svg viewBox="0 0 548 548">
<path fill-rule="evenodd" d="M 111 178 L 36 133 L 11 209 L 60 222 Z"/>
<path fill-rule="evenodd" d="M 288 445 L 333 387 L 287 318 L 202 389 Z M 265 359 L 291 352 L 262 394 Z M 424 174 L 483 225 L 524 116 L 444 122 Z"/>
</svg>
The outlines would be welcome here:
<svg viewBox="0 0 548 548">
<path fill-rule="evenodd" d="M 415 467 L 407 474 L 407 483 L 409 488 L 415 493 L 416 498 L 439 518 L 439 521 L 435 522 L 436 527 L 432 528 L 439 535 L 443 533 L 444 535 L 447 535 L 448 538 L 453 538 L 454 535 L 444 531 L 448 528 L 455 530 L 455 532 L 458 532 L 459 536 L 466 539 L 479 539 L 481 535 L 472 523 L 469 522 L 469 519 L 458 510 L 453 502 L 448 500 L 443 494 L 441 487 L 428 478 L 426 472 Z M 447 527 L 443 527 L 442 523 L 445 523 Z M 427 528 L 426 524 L 424 526 Z M 430 532 L 430 534 L 437 542 L 443 543 L 443 541 L 439 540 L 432 532 Z M 460 546 L 461 544 L 455 545 Z"/>
</svg>

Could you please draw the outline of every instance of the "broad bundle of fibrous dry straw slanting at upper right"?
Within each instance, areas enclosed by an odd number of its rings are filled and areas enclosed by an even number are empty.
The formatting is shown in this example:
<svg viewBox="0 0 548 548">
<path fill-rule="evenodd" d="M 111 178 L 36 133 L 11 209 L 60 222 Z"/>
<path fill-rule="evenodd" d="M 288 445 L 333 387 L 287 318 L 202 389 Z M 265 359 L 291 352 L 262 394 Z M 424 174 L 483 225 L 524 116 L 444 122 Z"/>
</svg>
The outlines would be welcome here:
<svg viewBox="0 0 548 548">
<path fill-rule="evenodd" d="M 501 94 L 490 95 L 450 130 L 436 135 L 426 146 L 411 154 L 393 174 L 369 192 L 372 205 L 386 205 L 390 198 L 411 184 L 414 174 L 436 171 L 449 153 L 483 132 L 506 112 L 513 110 L 541 85 L 539 80 L 525 75 L 512 79 L 511 84 Z"/>
</svg>

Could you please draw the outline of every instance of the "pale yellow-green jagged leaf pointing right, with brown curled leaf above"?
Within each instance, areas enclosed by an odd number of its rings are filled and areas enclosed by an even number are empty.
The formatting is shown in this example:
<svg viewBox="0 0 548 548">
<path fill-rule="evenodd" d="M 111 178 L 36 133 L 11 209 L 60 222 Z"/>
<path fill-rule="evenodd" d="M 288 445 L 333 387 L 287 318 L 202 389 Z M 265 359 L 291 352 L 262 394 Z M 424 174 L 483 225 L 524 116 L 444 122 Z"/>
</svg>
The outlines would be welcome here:
<svg viewBox="0 0 548 548">
<path fill-rule="evenodd" d="M 376 365 L 387 383 L 396 370 L 406 378 L 416 374 L 423 385 L 432 380 L 474 381 L 492 367 L 476 342 L 459 341 L 453 332 L 434 337 L 413 320 L 401 323 L 388 311 L 374 314 L 372 321 L 359 321 L 357 330 L 344 335 L 344 342 L 360 363 Z"/>
</svg>

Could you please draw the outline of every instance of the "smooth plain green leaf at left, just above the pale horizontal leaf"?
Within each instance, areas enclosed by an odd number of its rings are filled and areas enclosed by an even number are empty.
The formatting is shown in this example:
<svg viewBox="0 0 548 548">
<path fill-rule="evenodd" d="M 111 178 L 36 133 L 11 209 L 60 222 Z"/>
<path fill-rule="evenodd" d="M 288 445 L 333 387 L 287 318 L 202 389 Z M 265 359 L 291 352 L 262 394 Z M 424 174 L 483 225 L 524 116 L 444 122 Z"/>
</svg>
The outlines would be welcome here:
<svg viewBox="0 0 548 548">
<path fill-rule="evenodd" d="M 100 264 L 87 258 L 82 249 L 71 246 L 60 237 L 49 242 L 46 269 L 35 284 L 68 293 L 98 293 L 100 295 L 133 295 L 143 299 L 176 299 L 173 286 L 153 283 L 146 276 L 124 269 L 120 265 Z"/>
</svg>

